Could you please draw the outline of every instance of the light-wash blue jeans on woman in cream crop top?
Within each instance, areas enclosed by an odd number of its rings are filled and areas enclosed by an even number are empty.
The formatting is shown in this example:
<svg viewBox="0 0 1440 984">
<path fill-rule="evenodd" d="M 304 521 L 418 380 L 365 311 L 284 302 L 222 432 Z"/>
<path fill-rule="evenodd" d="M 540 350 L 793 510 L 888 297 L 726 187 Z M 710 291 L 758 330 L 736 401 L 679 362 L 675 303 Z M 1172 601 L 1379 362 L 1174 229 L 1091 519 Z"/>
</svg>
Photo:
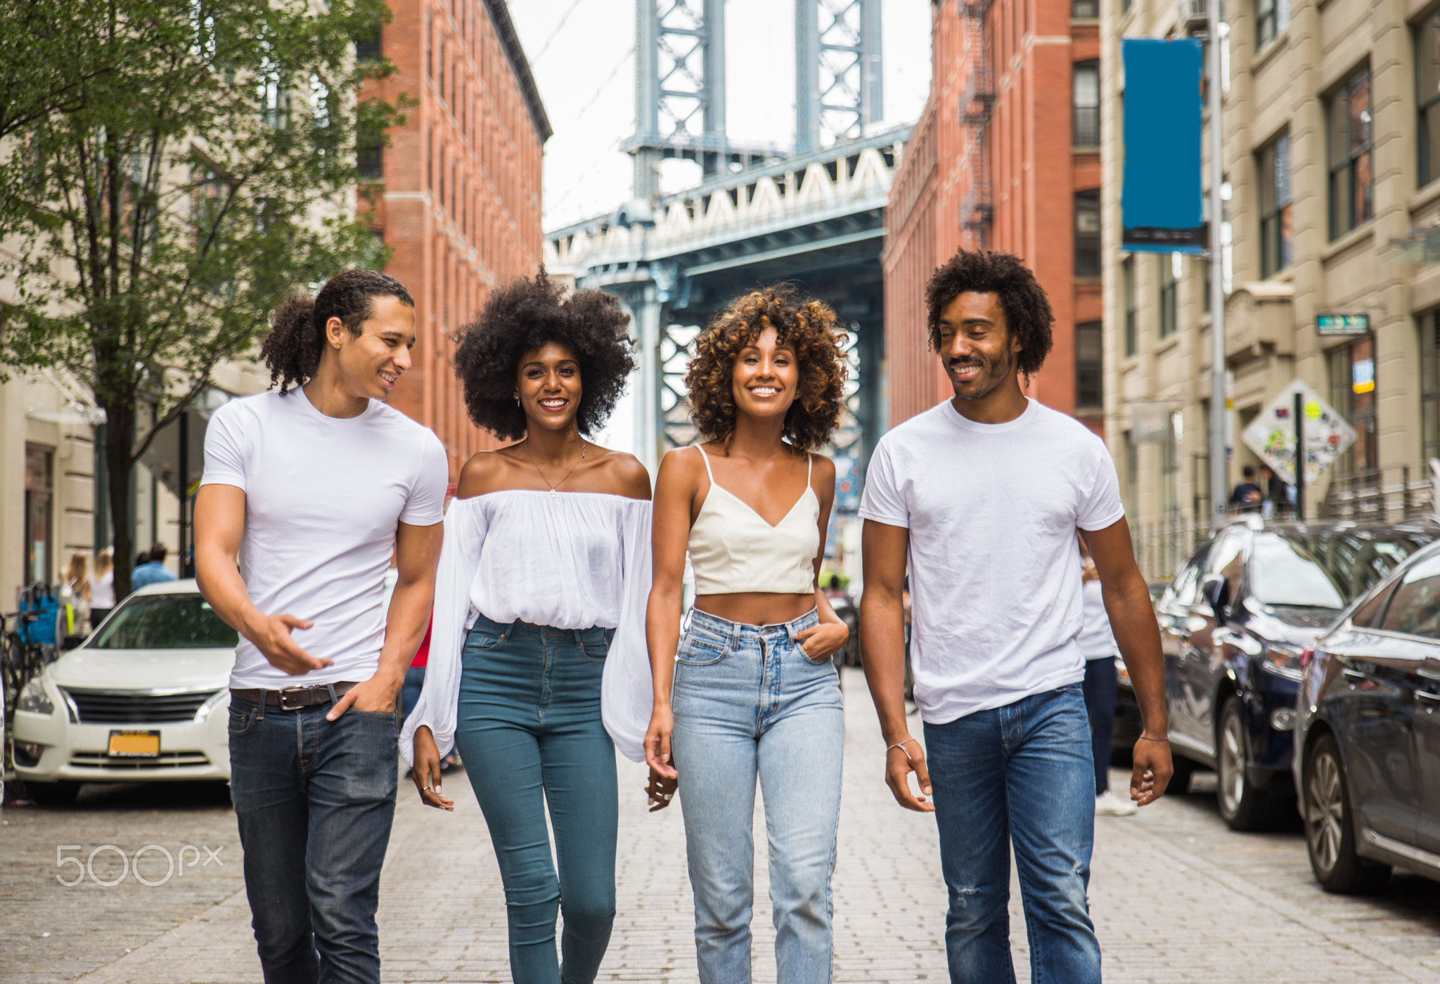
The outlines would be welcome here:
<svg viewBox="0 0 1440 984">
<path fill-rule="evenodd" d="M 840 678 L 795 633 L 814 611 L 746 626 L 693 611 L 675 655 L 671 751 L 696 890 L 701 984 L 750 980 L 755 783 L 765 796 L 780 984 L 831 980 L 829 878 L 845 715 Z"/>
</svg>

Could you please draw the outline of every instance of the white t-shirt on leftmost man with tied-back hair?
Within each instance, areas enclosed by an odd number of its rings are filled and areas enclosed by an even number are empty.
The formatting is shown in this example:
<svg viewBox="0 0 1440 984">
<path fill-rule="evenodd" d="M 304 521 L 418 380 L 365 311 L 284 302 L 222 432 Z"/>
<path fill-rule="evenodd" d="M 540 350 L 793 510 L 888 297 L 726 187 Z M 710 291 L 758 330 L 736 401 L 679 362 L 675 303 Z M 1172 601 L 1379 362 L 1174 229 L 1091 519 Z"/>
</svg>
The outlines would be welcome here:
<svg viewBox="0 0 1440 984">
<path fill-rule="evenodd" d="M 384 571 L 396 527 L 445 518 L 449 463 L 428 427 L 372 400 L 359 417 L 327 417 L 304 390 L 232 400 L 210 419 L 202 485 L 245 491 L 240 577 L 266 614 L 314 621 L 297 643 L 334 665 L 291 676 L 248 639 L 230 686 L 367 680 L 384 644 Z"/>
</svg>

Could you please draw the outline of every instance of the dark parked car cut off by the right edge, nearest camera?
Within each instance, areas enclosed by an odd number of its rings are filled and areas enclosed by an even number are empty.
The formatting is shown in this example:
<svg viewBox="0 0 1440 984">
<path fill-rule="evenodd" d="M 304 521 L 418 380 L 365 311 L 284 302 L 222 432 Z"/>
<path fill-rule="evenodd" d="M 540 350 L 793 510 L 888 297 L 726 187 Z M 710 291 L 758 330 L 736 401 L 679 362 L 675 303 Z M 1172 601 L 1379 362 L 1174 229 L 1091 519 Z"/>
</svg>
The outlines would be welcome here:
<svg viewBox="0 0 1440 984">
<path fill-rule="evenodd" d="M 1316 880 L 1374 890 L 1392 865 L 1440 880 L 1440 544 L 1302 662 L 1295 780 Z"/>
</svg>

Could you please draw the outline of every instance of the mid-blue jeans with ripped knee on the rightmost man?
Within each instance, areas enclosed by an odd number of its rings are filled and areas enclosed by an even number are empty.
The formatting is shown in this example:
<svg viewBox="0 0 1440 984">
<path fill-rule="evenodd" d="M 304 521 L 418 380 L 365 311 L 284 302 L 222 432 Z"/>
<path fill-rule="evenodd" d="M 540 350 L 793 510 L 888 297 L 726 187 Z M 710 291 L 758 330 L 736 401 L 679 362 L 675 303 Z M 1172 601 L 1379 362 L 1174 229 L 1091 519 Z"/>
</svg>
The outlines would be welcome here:
<svg viewBox="0 0 1440 984">
<path fill-rule="evenodd" d="M 1094 843 L 1090 726 L 1079 683 L 924 725 L 952 984 L 1014 984 L 1009 849 L 1015 847 L 1031 980 L 1099 984 L 1086 889 Z"/>
</svg>

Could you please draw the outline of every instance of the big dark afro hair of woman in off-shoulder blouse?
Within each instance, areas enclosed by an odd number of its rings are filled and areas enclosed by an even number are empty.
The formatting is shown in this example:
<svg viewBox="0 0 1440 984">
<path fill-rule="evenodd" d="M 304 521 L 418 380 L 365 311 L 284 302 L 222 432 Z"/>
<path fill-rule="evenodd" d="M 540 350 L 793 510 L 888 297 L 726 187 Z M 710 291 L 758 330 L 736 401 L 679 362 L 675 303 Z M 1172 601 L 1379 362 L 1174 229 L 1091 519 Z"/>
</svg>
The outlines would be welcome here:
<svg viewBox="0 0 1440 984">
<path fill-rule="evenodd" d="M 526 411 L 516 406 L 520 357 L 546 342 L 570 350 L 580 364 L 580 409 L 576 422 L 595 433 L 625 391 L 635 368 L 635 342 L 625 334 L 629 315 L 603 291 L 566 296 L 544 266 L 534 279 L 516 278 L 495 289 L 475 321 L 455 335 L 455 375 L 465 391 L 465 409 L 477 427 L 501 440 L 526 434 Z"/>
</svg>

